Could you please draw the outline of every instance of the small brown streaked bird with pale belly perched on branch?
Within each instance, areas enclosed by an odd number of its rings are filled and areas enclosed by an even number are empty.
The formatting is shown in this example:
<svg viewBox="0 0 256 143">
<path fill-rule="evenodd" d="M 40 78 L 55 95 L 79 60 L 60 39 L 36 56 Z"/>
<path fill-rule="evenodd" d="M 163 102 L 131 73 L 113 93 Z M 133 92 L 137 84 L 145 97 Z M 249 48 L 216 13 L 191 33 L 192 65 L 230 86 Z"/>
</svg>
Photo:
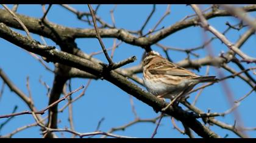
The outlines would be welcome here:
<svg viewBox="0 0 256 143">
<path fill-rule="evenodd" d="M 146 89 L 158 98 L 171 99 L 162 108 L 165 111 L 176 100 L 182 99 L 194 86 L 202 82 L 218 82 L 216 76 L 199 76 L 190 70 L 179 67 L 151 50 L 143 59 L 143 82 Z"/>
</svg>

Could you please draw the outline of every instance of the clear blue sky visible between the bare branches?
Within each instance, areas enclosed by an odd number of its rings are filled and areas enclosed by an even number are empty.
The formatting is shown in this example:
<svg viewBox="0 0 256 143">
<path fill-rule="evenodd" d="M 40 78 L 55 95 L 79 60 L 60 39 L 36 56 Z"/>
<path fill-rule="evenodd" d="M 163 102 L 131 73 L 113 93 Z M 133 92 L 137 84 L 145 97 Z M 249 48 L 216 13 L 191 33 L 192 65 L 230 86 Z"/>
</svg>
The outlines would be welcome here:
<svg viewBox="0 0 256 143">
<path fill-rule="evenodd" d="M 71 6 L 77 8 L 77 10 L 80 10 L 81 12 L 88 12 L 87 5 Z M 95 8 L 95 6 L 96 5 L 93 5 L 93 8 Z M 208 6 L 209 5 L 204 5 L 201 8 L 206 8 Z M 12 5 L 8 5 L 8 7 L 12 8 Z M 98 16 L 104 19 L 105 22 L 112 24 L 110 10 L 113 7 L 114 5 L 101 5 L 98 11 Z M 0 6 L 0 8 L 3 7 Z M 151 10 L 152 5 L 118 5 L 114 12 L 116 27 L 125 28 L 127 30 L 139 30 Z M 152 16 L 152 19 L 144 28 L 144 33 L 147 33 L 148 30 L 154 27 L 158 19 L 160 19 L 163 13 L 165 13 L 165 10 L 166 5 L 157 5 L 156 11 Z M 17 12 L 34 18 L 41 18 L 41 16 L 43 16 L 41 5 L 20 5 Z M 158 28 L 163 26 L 168 27 L 169 25 L 180 21 L 185 16 L 193 14 L 194 11 L 191 9 L 190 6 L 171 5 L 170 15 L 165 18 L 165 20 L 158 26 Z M 250 15 L 255 18 L 256 13 L 250 13 Z M 60 5 L 52 5 L 47 18 L 49 19 L 49 21 L 54 22 L 55 24 L 62 24 L 66 27 L 93 28 L 87 23 L 77 20 L 76 15 L 68 12 L 68 10 L 61 7 Z M 230 24 L 237 24 L 239 22 L 237 19 L 230 17 L 213 18 L 210 19 L 208 22 L 210 22 L 213 27 L 219 30 L 219 32 L 223 32 L 227 28 L 227 25 L 225 24 L 226 21 L 229 21 Z M 14 30 L 25 34 L 21 30 Z M 236 30 L 230 30 L 227 33 L 227 38 L 231 42 L 235 42 L 241 34 L 246 32 L 246 30 L 247 27 L 243 28 L 239 32 L 237 32 Z M 213 36 L 210 33 L 207 34 L 208 38 L 211 38 Z M 31 35 L 37 41 L 42 42 L 38 35 L 34 35 L 32 33 Z M 48 43 L 48 45 L 55 45 L 55 43 L 52 42 L 50 39 L 46 39 L 46 42 Z M 82 49 L 85 53 L 90 54 L 92 52 L 98 52 L 101 50 L 99 42 L 95 38 L 76 39 L 76 42 L 78 47 Z M 105 44 L 105 47 L 107 48 L 112 47 L 113 45 L 112 38 L 103 39 L 103 42 Z M 203 42 L 203 30 L 197 26 L 186 28 L 185 30 L 176 32 L 163 39 L 159 43 L 169 47 L 193 48 L 202 45 Z M 256 40 L 254 35 L 243 45 L 243 52 L 249 56 L 255 57 L 255 45 Z M 211 47 L 215 56 L 218 56 L 221 51 L 227 52 L 228 50 L 228 48 L 224 44 L 221 44 L 218 39 L 215 39 L 212 42 Z M 152 48 L 165 56 L 165 54 L 163 54 L 162 52 L 162 49 L 156 47 L 155 45 L 153 45 Z M 178 62 L 187 57 L 187 55 L 182 52 L 169 51 L 168 53 L 174 62 Z M 203 58 L 205 55 L 207 55 L 207 50 L 199 50 L 196 53 L 200 55 L 200 58 Z M 118 62 L 135 55 L 137 56 L 138 60 L 132 64 L 125 66 L 131 67 L 133 65 L 137 65 L 140 62 L 142 54 L 142 48 L 123 43 L 116 49 L 113 61 Z M 99 58 L 104 62 L 107 62 L 105 56 L 102 54 L 94 57 Z M 191 56 L 191 59 L 197 58 Z M 52 63 L 47 64 L 51 68 L 54 68 Z M 235 65 L 229 65 L 238 70 Z M 246 65 L 247 68 L 253 66 L 255 66 L 255 64 L 249 64 L 249 66 Z M 40 110 L 48 105 L 46 88 L 44 88 L 43 85 L 40 84 L 39 79 L 41 76 L 41 80 L 46 82 L 51 87 L 54 75 L 52 75 L 52 73 L 50 73 L 49 71 L 45 70 L 45 68 L 36 59 L 32 58 L 32 56 L 30 56 L 22 48 L 10 44 L 4 39 L 0 39 L 0 67 L 2 68 L 2 70 L 4 70 L 7 76 L 9 76 L 12 82 L 27 95 L 28 91 L 26 89 L 26 77 L 29 76 L 32 99 L 34 99 L 37 109 Z M 205 75 L 205 69 L 206 67 L 202 67 L 199 72 L 196 70 L 193 71 L 198 75 Z M 220 70 L 223 71 L 226 76 L 230 75 L 230 73 L 226 72 L 225 70 Z M 210 67 L 209 75 L 218 76 L 216 70 L 214 70 L 213 67 Z M 141 77 L 141 74 L 139 76 Z M 88 79 L 72 79 L 71 82 L 72 88 L 74 90 L 75 88 L 80 87 L 80 85 L 87 84 Z M 232 90 L 232 95 L 235 99 L 239 99 L 241 96 L 246 95 L 246 93 L 251 90 L 251 87 L 249 87 L 249 85 L 245 84 L 239 78 L 227 79 L 226 82 L 229 84 L 229 88 L 230 90 Z M 2 80 L 0 80 L 0 85 L 2 85 Z M 73 97 L 78 96 L 80 92 L 81 91 L 75 93 Z M 191 95 L 189 101 L 193 101 L 195 95 L 196 93 Z M 155 116 L 159 115 L 159 113 L 155 113 L 154 110 L 152 110 L 152 107 L 149 107 L 147 104 L 144 104 L 136 98 L 133 98 L 133 101 L 137 114 L 141 119 L 154 118 Z M 256 127 L 256 115 L 254 114 L 255 101 L 255 93 L 252 93 L 248 98 L 242 101 L 240 107 L 238 107 L 238 111 L 241 118 L 243 119 L 243 124 L 245 125 L 245 127 Z M 65 104 L 66 101 L 62 101 L 60 102 L 59 107 L 62 107 Z M 4 94 L 0 99 L 0 115 L 11 113 L 15 105 L 18 105 L 17 111 L 29 110 L 24 102 L 21 101 L 21 99 L 18 98 L 15 93 L 11 92 L 7 86 L 5 86 Z M 227 102 L 227 96 L 224 93 L 220 83 L 205 88 L 205 90 L 202 92 L 202 95 L 199 97 L 199 101 L 197 102 L 196 106 L 201 108 L 202 111 L 207 111 L 208 109 L 210 109 L 212 112 L 223 112 L 230 108 L 229 102 Z M 73 107 L 75 130 L 83 133 L 94 131 L 99 120 L 103 117 L 105 118 L 105 120 L 101 124 L 101 131 L 108 131 L 112 127 L 119 127 L 121 125 L 127 124 L 134 119 L 129 101 L 129 95 L 107 81 L 92 81 L 90 87 L 88 87 L 88 90 L 85 92 L 85 96 L 79 99 L 79 101 L 74 102 Z M 46 116 L 46 114 L 43 116 Z M 59 119 L 61 120 L 61 122 L 58 124 L 59 128 L 69 127 L 67 109 L 63 113 L 59 113 Z M 232 113 L 226 115 L 225 117 L 217 117 L 216 119 L 226 122 L 227 124 L 233 124 L 235 120 Z M 0 119 L 0 124 L 5 120 L 6 119 Z M 18 127 L 32 124 L 34 122 L 34 118 L 32 118 L 31 115 L 16 116 L 12 119 L 12 121 L 9 122 L 9 124 L 5 125 L 5 127 L 2 128 L 2 130 L 0 131 L 0 135 L 6 135 L 7 133 L 10 133 Z M 180 122 L 176 121 L 176 124 L 180 128 L 183 128 Z M 154 131 L 154 128 L 155 124 L 139 123 L 129 128 L 126 128 L 125 131 L 116 131 L 115 134 L 133 136 L 137 138 L 150 138 Z M 222 128 L 216 126 L 210 127 L 210 129 L 218 133 L 219 136 L 224 137 L 226 134 L 228 134 L 228 138 L 236 138 L 236 135 L 234 135 L 231 131 L 223 130 Z M 255 131 L 249 131 L 247 133 L 253 138 L 256 137 Z M 60 133 L 57 133 L 57 135 L 62 137 Z M 194 135 L 196 135 L 196 133 L 194 133 Z M 71 137 L 71 134 L 65 133 L 64 136 Z M 196 135 L 196 137 L 198 136 Z M 28 128 L 27 130 L 17 133 L 15 136 L 13 136 L 13 138 L 41 138 L 40 128 Z M 170 118 L 163 118 L 155 138 L 187 138 L 187 135 L 182 135 L 179 133 L 179 131 L 174 129 L 173 125 L 171 124 Z"/>
</svg>

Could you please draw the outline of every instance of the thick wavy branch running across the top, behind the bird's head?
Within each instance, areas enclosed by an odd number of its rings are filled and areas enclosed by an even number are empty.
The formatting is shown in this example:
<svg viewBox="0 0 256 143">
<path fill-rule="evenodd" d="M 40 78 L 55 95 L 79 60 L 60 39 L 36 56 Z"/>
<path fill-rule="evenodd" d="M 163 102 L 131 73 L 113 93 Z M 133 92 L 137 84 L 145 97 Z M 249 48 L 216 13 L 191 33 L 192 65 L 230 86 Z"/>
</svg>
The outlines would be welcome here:
<svg viewBox="0 0 256 143">
<path fill-rule="evenodd" d="M 256 5 L 249 5 L 242 7 L 246 12 L 253 12 L 256 11 Z M 30 18 L 28 16 L 16 14 L 16 16 L 21 19 L 21 21 L 26 25 L 29 32 L 36 33 L 38 35 L 45 36 L 47 38 L 51 38 L 54 41 L 57 41 L 54 33 L 52 32 L 51 28 L 46 27 L 41 24 L 40 19 Z M 216 9 L 212 12 L 205 13 L 205 19 L 215 18 L 216 16 L 230 16 L 230 13 L 226 10 L 219 10 Z M 144 46 L 144 45 L 152 45 L 157 43 L 158 41 L 166 38 L 166 36 L 171 35 L 183 28 L 188 28 L 193 25 L 196 25 L 197 18 L 189 19 L 186 21 L 177 22 L 174 25 L 169 27 L 163 28 L 159 32 L 155 33 L 154 35 L 147 37 L 138 38 L 137 36 L 132 35 L 131 33 L 127 32 L 124 29 L 99 29 L 99 34 L 102 38 L 118 38 L 121 41 L 124 41 L 128 44 Z M 9 13 L 6 10 L 0 9 L 0 22 L 4 22 L 5 24 L 9 25 L 13 28 L 18 28 L 23 30 L 20 24 L 12 19 Z M 49 22 L 50 27 L 54 27 L 54 30 L 66 38 L 96 38 L 96 33 L 94 28 L 91 29 L 80 29 L 80 28 L 69 28 L 64 27 L 62 25 L 57 25 L 54 23 Z"/>
</svg>

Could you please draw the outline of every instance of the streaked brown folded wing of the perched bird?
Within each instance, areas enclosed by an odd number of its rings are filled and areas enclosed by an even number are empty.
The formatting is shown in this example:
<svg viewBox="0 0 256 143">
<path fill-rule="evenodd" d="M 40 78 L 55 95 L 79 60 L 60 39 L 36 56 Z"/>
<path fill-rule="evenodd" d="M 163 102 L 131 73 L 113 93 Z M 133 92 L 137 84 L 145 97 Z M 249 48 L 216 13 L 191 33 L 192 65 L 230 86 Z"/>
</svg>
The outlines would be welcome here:
<svg viewBox="0 0 256 143">
<path fill-rule="evenodd" d="M 178 67 L 177 65 L 172 64 L 169 61 L 165 61 L 161 63 L 162 65 L 155 66 L 155 68 L 150 69 L 149 72 L 152 75 L 163 74 L 163 75 L 172 75 L 172 76 L 197 76 L 192 71 L 189 71 L 182 67 Z"/>
</svg>

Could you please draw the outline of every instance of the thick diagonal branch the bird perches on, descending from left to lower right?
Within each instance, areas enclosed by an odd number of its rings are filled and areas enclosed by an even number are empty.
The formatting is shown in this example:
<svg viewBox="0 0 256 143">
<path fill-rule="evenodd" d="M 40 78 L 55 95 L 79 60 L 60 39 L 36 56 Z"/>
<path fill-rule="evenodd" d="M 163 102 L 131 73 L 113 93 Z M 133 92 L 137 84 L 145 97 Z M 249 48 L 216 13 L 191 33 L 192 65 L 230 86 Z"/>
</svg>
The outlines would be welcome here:
<svg viewBox="0 0 256 143">
<path fill-rule="evenodd" d="M 104 67 L 100 64 L 96 64 L 92 61 L 89 61 L 84 58 L 80 58 L 78 56 L 71 55 L 66 52 L 61 52 L 59 50 L 41 50 L 38 47 L 39 42 L 30 41 L 23 35 L 19 33 L 13 32 L 7 27 L 5 24 L 0 23 L 0 36 L 12 42 L 15 45 L 18 45 L 21 48 L 24 48 L 30 52 L 37 53 L 38 55 L 44 56 L 52 62 L 59 62 L 71 67 L 79 68 L 80 70 L 87 71 L 96 76 L 102 76 L 107 81 L 115 84 L 122 90 L 126 91 L 128 94 L 133 95 L 135 98 L 140 101 L 150 105 L 154 108 L 155 111 L 160 111 L 163 107 L 166 107 L 167 103 L 158 99 L 157 97 L 151 95 L 150 93 L 146 93 L 140 87 L 133 84 L 129 80 L 127 80 L 124 76 L 119 75 L 116 71 L 105 71 Z M 199 136 L 203 138 L 219 138 L 219 136 L 211 131 L 209 128 L 205 127 L 201 124 L 201 122 L 197 121 L 193 115 L 188 113 L 187 111 L 182 110 L 182 108 L 168 108 L 164 113 L 174 116 L 174 118 L 180 120 L 184 124 L 188 125 L 192 130 L 194 130 Z"/>
</svg>

